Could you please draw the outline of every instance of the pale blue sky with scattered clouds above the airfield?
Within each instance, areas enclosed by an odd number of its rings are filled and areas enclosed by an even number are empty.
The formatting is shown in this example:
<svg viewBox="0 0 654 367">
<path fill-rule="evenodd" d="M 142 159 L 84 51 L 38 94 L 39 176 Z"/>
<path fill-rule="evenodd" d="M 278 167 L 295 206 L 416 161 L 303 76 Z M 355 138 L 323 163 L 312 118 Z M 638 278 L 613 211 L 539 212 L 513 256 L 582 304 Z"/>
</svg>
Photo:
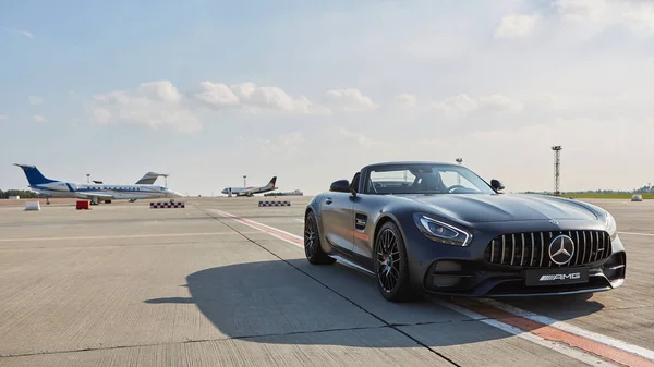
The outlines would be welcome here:
<svg viewBox="0 0 654 367">
<path fill-rule="evenodd" d="M 645 0 L 3 1 L 0 50 L 4 189 L 25 163 L 315 194 L 461 157 L 507 192 L 552 191 L 554 145 L 562 191 L 654 181 Z"/>
</svg>

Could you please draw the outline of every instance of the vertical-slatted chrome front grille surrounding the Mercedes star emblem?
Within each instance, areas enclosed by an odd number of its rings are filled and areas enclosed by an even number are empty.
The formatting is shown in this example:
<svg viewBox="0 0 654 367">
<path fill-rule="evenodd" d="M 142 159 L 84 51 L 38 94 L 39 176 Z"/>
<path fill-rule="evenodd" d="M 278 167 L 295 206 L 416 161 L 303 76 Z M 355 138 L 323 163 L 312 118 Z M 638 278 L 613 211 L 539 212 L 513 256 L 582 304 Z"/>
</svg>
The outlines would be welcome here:
<svg viewBox="0 0 654 367">
<path fill-rule="evenodd" d="M 585 265 L 608 258 L 611 254 L 610 236 L 605 231 L 553 231 L 502 234 L 495 237 L 484 253 L 491 264 L 554 268 L 561 267 L 549 258 L 549 243 L 559 234 L 574 242 L 572 259 L 564 266 Z"/>
</svg>

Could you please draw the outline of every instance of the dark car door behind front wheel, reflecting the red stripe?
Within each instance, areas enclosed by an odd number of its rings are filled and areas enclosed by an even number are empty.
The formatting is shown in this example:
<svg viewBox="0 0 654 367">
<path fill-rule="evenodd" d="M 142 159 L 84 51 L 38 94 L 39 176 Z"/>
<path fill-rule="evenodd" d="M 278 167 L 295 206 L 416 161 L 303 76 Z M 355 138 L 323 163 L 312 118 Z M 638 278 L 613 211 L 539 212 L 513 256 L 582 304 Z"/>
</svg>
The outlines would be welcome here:
<svg viewBox="0 0 654 367">
<path fill-rule="evenodd" d="M 351 194 L 329 192 L 323 197 L 320 207 L 325 238 L 331 246 L 351 250 L 354 222 Z"/>
</svg>

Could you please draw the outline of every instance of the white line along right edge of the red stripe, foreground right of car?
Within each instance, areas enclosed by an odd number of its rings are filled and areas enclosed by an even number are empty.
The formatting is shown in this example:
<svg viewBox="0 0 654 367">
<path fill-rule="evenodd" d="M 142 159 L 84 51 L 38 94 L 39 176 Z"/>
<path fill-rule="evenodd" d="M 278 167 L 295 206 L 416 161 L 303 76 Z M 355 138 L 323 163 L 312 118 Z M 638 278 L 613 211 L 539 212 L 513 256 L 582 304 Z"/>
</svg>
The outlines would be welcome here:
<svg viewBox="0 0 654 367">
<path fill-rule="evenodd" d="M 528 310 L 505 304 L 502 302 L 498 302 L 496 299 L 487 299 L 486 298 L 486 299 L 480 299 L 480 302 L 485 303 L 489 306 L 499 308 L 501 310 L 505 310 L 509 314 L 513 314 L 516 316 L 520 316 L 520 317 L 523 317 L 523 318 L 526 318 L 526 319 L 530 319 L 530 320 L 533 320 L 536 322 L 541 322 L 541 323 L 547 325 L 549 327 L 553 327 L 553 328 L 556 328 L 556 329 L 559 329 L 562 331 L 567 331 L 571 334 L 576 334 L 579 337 L 583 337 L 585 339 L 594 340 L 597 343 L 613 346 L 615 348 L 622 350 L 622 351 L 629 352 L 631 354 L 640 355 L 643 358 L 654 360 L 654 351 L 650 351 L 650 350 L 646 350 L 646 348 L 638 346 L 638 345 L 629 344 L 621 340 L 613 339 L 610 337 L 598 334 L 596 332 L 588 331 L 588 330 L 581 329 L 579 327 L 576 327 L 573 325 L 566 323 L 564 321 L 559 321 L 557 319 L 554 319 L 554 318 L 550 318 L 547 316 L 530 313 Z"/>
</svg>

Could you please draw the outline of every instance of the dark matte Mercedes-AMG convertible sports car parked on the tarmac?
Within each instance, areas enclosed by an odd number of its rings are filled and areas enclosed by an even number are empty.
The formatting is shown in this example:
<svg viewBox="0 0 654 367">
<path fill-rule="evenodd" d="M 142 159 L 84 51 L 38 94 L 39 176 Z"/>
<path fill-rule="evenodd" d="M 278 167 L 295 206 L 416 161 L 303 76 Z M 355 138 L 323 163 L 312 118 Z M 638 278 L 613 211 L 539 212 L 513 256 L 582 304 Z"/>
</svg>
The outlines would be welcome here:
<svg viewBox="0 0 654 367">
<path fill-rule="evenodd" d="M 488 184 L 459 164 L 366 166 L 307 205 L 306 258 L 374 274 L 389 301 L 420 293 L 571 294 L 622 284 L 625 247 L 610 213 L 501 189 L 499 181 Z"/>
</svg>

